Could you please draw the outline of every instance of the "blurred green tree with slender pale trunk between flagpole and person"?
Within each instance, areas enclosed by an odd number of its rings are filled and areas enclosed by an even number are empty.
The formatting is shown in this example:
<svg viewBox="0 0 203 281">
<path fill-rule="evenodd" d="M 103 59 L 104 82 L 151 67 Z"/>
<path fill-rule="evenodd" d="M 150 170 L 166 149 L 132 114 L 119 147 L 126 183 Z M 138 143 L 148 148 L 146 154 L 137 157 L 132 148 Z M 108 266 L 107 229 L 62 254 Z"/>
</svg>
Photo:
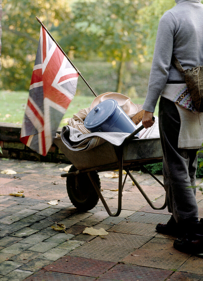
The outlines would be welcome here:
<svg viewBox="0 0 203 281">
<path fill-rule="evenodd" d="M 69 53 L 88 59 L 92 53 L 118 67 L 117 91 L 122 91 L 125 62 L 143 60 L 145 48 L 138 24 L 138 11 L 143 0 L 77 1 L 72 6 L 72 31 L 63 29 Z M 79 38 L 79 40 L 78 40 Z"/>
</svg>

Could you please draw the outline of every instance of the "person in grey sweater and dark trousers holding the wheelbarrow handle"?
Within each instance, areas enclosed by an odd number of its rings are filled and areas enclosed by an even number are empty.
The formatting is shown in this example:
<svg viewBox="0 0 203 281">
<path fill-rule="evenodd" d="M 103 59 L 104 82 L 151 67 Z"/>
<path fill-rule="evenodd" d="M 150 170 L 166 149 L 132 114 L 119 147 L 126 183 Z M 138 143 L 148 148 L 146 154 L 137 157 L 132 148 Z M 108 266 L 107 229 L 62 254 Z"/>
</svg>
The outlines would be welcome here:
<svg viewBox="0 0 203 281">
<path fill-rule="evenodd" d="M 176 6 L 161 17 L 143 104 L 142 123 L 153 125 L 159 95 L 159 132 L 163 149 L 163 176 L 168 223 L 156 230 L 176 237 L 174 248 L 203 253 L 203 219 L 198 219 L 195 200 L 197 151 L 203 142 L 203 113 L 190 99 L 184 74 L 174 65 L 175 55 L 183 69 L 203 65 L 203 4 L 200 0 L 175 0 Z M 200 85 L 201 86 L 201 85 Z"/>
</svg>

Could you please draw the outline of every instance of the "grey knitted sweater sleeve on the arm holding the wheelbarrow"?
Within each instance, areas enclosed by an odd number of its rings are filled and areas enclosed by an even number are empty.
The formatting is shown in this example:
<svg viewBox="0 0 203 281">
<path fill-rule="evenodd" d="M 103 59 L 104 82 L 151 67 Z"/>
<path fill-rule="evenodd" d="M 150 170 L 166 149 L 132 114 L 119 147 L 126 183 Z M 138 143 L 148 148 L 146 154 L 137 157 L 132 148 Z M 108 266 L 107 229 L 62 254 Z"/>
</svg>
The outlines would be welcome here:
<svg viewBox="0 0 203 281">
<path fill-rule="evenodd" d="M 142 106 L 149 112 L 154 112 L 159 95 L 168 80 L 175 27 L 175 18 L 171 12 L 167 11 L 159 21 L 148 91 Z"/>
</svg>

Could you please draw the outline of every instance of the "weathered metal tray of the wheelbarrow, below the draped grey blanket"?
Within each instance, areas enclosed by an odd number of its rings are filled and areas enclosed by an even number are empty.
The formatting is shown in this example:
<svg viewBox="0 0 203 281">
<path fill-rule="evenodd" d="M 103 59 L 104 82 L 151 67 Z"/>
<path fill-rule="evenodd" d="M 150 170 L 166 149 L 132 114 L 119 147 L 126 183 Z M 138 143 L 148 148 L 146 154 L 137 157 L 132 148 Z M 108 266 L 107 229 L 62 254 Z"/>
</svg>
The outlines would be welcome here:
<svg viewBox="0 0 203 281">
<path fill-rule="evenodd" d="M 118 163 L 115 146 L 110 142 L 96 146 L 86 151 L 72 151 L 62 142 L 61 138 L 54 138 L 54 143 L 78 169 L 89 169 Z M 159 138 L 134 139 L 124 144 L 123 162 L 144 161 L 145 159 L 161 159 L 163 152 Z"/>
</svg>

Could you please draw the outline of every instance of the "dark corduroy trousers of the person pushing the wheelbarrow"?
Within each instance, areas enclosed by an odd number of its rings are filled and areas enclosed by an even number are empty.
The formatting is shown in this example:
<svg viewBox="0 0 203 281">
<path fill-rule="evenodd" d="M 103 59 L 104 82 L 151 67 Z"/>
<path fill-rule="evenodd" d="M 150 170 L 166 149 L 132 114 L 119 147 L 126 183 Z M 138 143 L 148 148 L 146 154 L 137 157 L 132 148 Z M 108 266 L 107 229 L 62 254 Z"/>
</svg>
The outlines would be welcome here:
<svg viewBox="0 0 203 281">
<path fill-rule="evenodd" d="M 178 148 L 180 116 L 175 103 L 161 97 L 159 102 L 159 132 L 163 149 L 163 176 L 168 212 L 176 222 L 198 217 L 195 200 L 197 149 Z M 189 188 L 188 188 L 189 187 Z"/>
</svg>

